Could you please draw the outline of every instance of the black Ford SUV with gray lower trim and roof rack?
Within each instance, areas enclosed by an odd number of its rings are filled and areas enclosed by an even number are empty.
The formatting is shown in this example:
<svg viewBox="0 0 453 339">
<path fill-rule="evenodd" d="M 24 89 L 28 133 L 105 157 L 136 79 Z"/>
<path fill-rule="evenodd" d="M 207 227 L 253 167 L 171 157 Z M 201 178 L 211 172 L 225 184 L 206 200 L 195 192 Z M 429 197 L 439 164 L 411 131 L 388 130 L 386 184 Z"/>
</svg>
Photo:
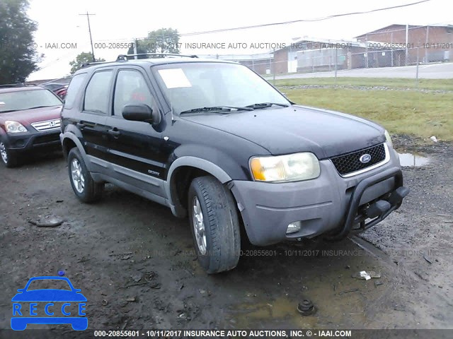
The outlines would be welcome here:
<svg viewBox="0 0 453 339">
<path fill-rule="evenodd" d="M 408 189 L 389 133 L 294 105 L 246 66 L 151 55 L 77 71 L 62 110 L 76 196 L 105 182 L 188 215 L 200 264 L 234 268 L 252 244 L 366 230 Z"/>
</svg>

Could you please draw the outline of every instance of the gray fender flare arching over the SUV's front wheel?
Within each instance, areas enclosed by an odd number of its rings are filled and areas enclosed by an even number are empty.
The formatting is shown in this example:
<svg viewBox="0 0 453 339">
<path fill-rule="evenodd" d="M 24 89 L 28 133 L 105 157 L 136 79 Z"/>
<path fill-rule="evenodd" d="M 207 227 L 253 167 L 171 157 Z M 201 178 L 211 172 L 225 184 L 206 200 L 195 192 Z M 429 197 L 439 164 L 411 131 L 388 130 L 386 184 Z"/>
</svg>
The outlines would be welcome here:
<svg viewBox="0 0 453 339">
<path fill-rule="evenodd" d="M 219 182 L 222 182 L 222 184 L 225 184 L 226 182 L 231 182 L 232 180 L 229 174 L 227 174 L 221 167 L 215 165 L 213 162 L 210 162 L 209 160 L 191 156 L 179 157 L 171 164 L 170 168 L 168 168 L 167 179 L 166 182 L 164 183 L 165 193 L 168 198 L 168 205 L 171 208 L 171 212 L 176 217 L 184 218 L 186 215 L 185 208 L 183 208 L 182 206 L 176 206 L 177 204 L 175 203 L 173 196 L 171 194 L 171 179 L 173 173 L 175 172 L 176 169 L 178 169 L 178 167 L 181 166 L 190 166 L 202 169 L 203 171 L 212 174 L 212 176 L 217 178 L 217 180 L 219 180 Z"/>
</svg>

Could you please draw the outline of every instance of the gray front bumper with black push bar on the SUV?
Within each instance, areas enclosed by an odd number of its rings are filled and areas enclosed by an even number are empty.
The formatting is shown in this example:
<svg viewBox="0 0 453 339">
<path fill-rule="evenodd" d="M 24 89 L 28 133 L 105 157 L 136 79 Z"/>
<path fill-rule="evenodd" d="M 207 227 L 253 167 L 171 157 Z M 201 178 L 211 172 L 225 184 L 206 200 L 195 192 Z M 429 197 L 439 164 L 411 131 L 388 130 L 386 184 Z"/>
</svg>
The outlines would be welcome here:
<svg viewBox="0 0 453 339">
<path fill-rule="evenodd" d="M 336 241 L 376 225 L 408 194 L 393 149 L 389 157 L 384 165 L 352 177 L 341 177 L 331 160 L 321 160 L 321 174 L 313 180 L 279 184 L 234 180 L 230 187 L 248 239 L 260 246 L 320 234 Z M 289 233 L 294 222 L 300 230 Z"/>
</svg>

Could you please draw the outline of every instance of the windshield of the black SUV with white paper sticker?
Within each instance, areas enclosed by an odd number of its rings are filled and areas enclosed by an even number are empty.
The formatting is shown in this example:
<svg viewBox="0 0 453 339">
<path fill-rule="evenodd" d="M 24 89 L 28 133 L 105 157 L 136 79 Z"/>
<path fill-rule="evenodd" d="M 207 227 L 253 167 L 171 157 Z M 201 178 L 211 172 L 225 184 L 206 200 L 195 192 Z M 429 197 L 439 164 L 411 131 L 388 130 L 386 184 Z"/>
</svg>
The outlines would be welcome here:
<svg viewBox="0 0 453 339">
<path fill-rule="evenodd" d="M 246 107 L 261 102 L 290 105 L 269 83 L 239 64 L 191 62 L 154 66 L 154 69 L 177 114 L 201 107 Z"/>
</svg>

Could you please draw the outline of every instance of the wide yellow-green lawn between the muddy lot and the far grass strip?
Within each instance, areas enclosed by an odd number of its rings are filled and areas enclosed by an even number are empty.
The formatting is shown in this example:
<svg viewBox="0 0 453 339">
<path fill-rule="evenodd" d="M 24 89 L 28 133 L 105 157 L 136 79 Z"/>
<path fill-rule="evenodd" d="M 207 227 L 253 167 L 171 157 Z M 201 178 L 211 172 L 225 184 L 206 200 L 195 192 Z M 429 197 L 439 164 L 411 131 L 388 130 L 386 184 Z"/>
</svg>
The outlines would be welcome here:
<svg viewBox="0 0 453 339">
<path fill-rule="evenodd" d="M 314 80 L 319 84 L 321 79 L 304 80 Z M 376 80 L 374 85 L 381 79 Z M 429 83 L 435 85 L 435 82 Z M 453 141 L 453 93 L 348 88 L 285 88 L 283 91 L 290 100 L 300 105 L 333 109 L 371 119 L 382 124 L 390 133 L 421 138 L 436 136 Z"/>
</svg>

